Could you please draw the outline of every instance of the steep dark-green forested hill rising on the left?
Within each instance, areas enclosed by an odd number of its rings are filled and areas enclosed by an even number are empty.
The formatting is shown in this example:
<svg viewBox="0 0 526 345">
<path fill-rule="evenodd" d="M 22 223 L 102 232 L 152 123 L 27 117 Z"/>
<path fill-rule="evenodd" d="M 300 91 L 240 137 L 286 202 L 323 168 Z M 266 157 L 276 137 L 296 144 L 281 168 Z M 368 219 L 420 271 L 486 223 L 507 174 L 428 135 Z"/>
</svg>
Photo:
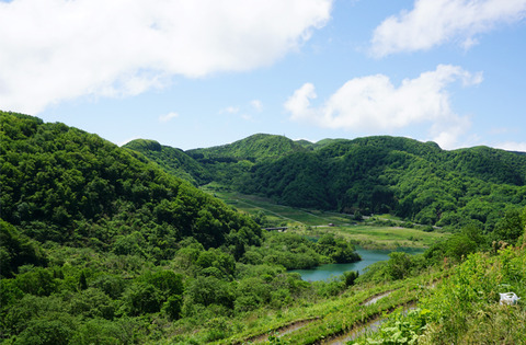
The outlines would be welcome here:
<svg viewBox="0 0 526 345">
<path fill-rule="evenodd" d="M 12 243 L 1 253 L 4 276 L 38 264 L 36 254 L 19 257 L 21 243 L 50 241 L 160 262 L 187 237 L 232 251 L 260 242 L 251 219 L 140 153 L 27 115 L 0 112 L 0 125 L 1 217 L 12 226 L 8 233 L 2 223 L 2 242 Z"/>
</svg>

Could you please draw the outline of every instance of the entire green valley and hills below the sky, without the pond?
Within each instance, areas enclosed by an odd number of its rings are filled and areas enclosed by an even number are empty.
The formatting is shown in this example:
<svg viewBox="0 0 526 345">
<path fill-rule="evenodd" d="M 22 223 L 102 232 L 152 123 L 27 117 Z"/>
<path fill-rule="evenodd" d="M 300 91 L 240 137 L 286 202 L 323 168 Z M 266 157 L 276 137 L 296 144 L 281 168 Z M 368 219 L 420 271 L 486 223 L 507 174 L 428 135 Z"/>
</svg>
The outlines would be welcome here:
<svg viewBox="0 0 526 345">
<path fill-rule="evenodd" d="M 499 303 L 526 296 L 523 154 L 271 135 L 182 151 L 0 125 L 2 344 L 524 341 L 524 299 Z M 294 272 L 358 246 L 392 252 Z"/>
</svg>

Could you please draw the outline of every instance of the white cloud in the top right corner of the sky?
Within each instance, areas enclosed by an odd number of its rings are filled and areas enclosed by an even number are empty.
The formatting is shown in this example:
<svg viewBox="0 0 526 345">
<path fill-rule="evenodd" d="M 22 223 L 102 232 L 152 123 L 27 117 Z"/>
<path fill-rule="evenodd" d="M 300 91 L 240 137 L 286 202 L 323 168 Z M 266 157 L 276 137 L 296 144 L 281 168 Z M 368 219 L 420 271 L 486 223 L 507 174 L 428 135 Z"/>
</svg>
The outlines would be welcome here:
<svg viewBox="0 0 526 345">
<path fill-rule="evenodd" d="M 382 57 L 451 39 L 469 48 L 477 44 L 477 34 L 525 16 L 526 0 L 416 0 L 412 11 L 390 16 L 375 30 L 371 51 Z"/>
</svg>

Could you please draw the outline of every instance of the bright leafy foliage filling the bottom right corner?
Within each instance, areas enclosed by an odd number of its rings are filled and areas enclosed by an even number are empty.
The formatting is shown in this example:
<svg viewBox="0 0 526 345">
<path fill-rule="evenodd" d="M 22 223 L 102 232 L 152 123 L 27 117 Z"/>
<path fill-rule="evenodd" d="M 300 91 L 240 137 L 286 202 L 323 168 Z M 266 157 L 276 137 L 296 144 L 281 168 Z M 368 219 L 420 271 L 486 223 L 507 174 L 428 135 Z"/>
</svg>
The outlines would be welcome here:
<svg viewBox="0 0 526 345">
<path fill-rule="evenodd" d="M 450 268 L 418 308 L 396 312 L 356 344 L 524 344 L 526 304 L 501 304 L 500 295 L 526 297 L 526 248 L 473 253 Z"/>
</svg>

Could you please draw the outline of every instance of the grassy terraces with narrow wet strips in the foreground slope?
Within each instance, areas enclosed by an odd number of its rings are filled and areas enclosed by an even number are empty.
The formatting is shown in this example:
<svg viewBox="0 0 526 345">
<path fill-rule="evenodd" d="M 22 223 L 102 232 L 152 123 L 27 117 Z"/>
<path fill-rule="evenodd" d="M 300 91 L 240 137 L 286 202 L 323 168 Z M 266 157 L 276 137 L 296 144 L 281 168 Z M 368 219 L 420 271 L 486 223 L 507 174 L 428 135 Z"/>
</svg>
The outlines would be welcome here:
<svg viewBox="0 0 526 345">
<path fill-rule="evenodd" d="M 350 289 L 333 300 L 300 310 L 290 309 L 279 315 L 266 315 L 262 318 L 266 329 L 254 326 L 217 344 L 262 344 L 268 341 L 276 344 L 345 344 L 355 336 L 374 331 L 390 312 L 415 308 L 419 298 L 435 288 L 439 276 L 441 273 L 432 273 L 403 281 Z"/>
</svg>

